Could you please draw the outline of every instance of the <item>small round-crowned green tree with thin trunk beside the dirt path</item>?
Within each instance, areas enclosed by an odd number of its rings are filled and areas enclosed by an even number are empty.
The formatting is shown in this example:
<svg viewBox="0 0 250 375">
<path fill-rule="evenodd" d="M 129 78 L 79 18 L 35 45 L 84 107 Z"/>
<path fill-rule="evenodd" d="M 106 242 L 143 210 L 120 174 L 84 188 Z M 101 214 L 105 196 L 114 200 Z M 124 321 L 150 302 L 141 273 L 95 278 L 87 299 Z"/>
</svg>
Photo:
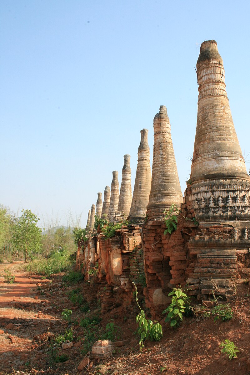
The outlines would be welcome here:
<svg viewBox="0 0 250 375">
<path fill-rule="evenodd" d="M 38 218 L 30 210 L 22 210 L 22 215 L 16 219 L 13 228 L 13 242 L 16 247 L 25 252 L 25 262 L 34 252 L 42 247 L 42 229 L 37 226 Z"/>
</svg>

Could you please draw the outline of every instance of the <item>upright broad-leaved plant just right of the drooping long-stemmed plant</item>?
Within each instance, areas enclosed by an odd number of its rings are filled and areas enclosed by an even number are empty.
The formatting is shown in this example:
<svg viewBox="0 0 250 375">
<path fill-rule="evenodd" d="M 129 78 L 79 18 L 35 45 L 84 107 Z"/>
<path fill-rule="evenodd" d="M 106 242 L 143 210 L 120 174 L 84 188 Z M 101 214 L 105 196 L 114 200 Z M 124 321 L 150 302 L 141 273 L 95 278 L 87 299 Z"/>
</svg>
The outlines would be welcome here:
<svg viewBox="0 0 250 375">
<path fill-rule="evenodd" d="M 171 303 L 162 311 L 162 314 L 167 314 L 165 322 L 170 321 L 170 327 L 179 326 L 183 321 L 183 315 L 185 313 L 188 297 L 186 293 L 182 291 L 181 288 L 174 288 L 169 294 L 168 297 L 171 298 Z"/>
</svg>

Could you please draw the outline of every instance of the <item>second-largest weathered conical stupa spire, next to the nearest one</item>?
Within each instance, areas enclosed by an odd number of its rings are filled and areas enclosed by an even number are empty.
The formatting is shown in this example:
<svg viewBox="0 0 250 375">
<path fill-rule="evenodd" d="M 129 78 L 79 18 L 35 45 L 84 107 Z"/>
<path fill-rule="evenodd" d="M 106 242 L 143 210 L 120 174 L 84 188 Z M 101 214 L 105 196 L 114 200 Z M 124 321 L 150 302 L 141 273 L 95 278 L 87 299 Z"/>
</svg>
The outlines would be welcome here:
<svg viewBox="0 0 250 375">
<path fill-rule="evenodd" d="M 165 105 L 161 105 L 159 113 L 155 115 L 154 132 L 152 182 L 147 205 L 149 220 L 161 219 L 164 210 L 171 204 L 180 207 L 183 202 Z"/>
</svg>

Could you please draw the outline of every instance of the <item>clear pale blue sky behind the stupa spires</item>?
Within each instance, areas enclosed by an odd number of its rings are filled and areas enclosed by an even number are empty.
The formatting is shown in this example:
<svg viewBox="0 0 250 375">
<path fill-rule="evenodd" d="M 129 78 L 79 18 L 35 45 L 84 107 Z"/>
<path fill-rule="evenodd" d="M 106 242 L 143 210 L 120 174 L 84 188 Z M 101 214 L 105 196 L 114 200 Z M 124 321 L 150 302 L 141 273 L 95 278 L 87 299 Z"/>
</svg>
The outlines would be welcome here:
<svg viewBox="0 0 250 375">
<path fill-rule="evenodd" d="M 199 48 L 215 39 L 250 168 L 250 2 L 0 1 L 0 204 L 86 226 L 97 193 L 167 107 L 180 184 L 195 139 Z"/>
</svg>

